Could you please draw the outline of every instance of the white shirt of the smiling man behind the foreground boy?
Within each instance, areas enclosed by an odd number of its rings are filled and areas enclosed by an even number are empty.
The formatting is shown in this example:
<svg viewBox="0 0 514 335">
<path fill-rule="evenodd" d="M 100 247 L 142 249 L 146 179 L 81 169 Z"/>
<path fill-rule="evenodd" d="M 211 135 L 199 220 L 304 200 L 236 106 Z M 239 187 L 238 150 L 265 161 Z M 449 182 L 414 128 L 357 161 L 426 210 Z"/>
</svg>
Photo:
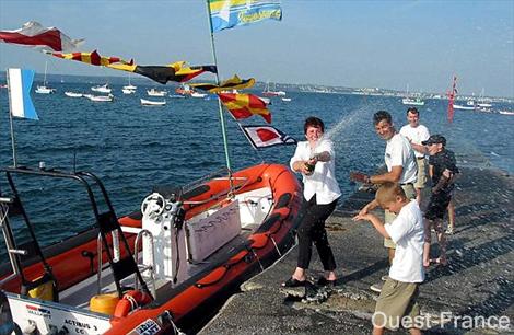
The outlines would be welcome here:
<svg viewBox="0 0 514 335">
<path fill-rule="evenodd" d="M 401 134 L 397 132 L 387 140 L 384 161 L 388 172 L 393 170 L 393 166 L 404 168 L 398 183 L 416 183 L 418 164 L 416 163 L 414 150 L 412 150 L 409 140 Z"/>
</svg>

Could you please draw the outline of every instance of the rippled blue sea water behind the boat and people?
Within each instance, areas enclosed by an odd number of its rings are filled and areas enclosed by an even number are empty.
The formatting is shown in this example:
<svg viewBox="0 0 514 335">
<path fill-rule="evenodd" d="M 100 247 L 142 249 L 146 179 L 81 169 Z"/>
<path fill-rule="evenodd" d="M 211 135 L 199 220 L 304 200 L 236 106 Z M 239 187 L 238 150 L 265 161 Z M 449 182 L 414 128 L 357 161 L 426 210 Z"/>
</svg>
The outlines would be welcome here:
<svg viewBox="0 0 514 335">
<path fill-rule="evenodd" d="M 143 85 L 131 95 L 114 85 L 113 103 L 72 99 L 65 91 L 90 93 L 86 84 L 54 84 L 56 94 L 33 94 L 40 120 L 14 119 L 17 161 L 32 168 L 91 171 L 104 182 L 118 216 L 136 211 L 155 185 L 185 185 L 225 165 L 218 102 L 167 99 L 165 106 L 140 105 Z M 149 86 L 150 88 L 150 86 Z M 171 91 L 171 90 L 168 90 Z M 375 172 L 384 163 L 385 142 L 373 127 L 373 114 L 388 111 L 399 129 L 407 107 L 400 97 L 288 92 L 291 102 L 273 99 L 272 125 L 305 140 L 303 123 L 320 117 L 335 142 L 336 174 L 342 200 L 354 190 L 350 171 Z M 446 120 L 446 100 L 419 107 L 421 124 L 447 138 L 460 166 L 514 172 L 514 116 L 455 111 Z M 510 108 L 512 106 L 498 106 Z M 254 150 L 236 123 L 225 115 L 233 170 L 261 160 L 288 164 L 295 147 Z M 254 116 L 247 125 L 265 125 Z M 12 165 L 7 90 L 0 90 L 0 166 Z M 43 244 L 83 230 L 94 221 L 85 192 L 69 181 L 19 177 L 21 197 Z M 0 189 L 5 192 L 4 175 Z M 342 204 L 343 201 L 340 201 Z M 17 230 L 20 222 L 14 223 Z M 0 244 L 3 243 L 0 242 Z M 2 255 L 2 262 L 4 256 Z"/>
</svg>

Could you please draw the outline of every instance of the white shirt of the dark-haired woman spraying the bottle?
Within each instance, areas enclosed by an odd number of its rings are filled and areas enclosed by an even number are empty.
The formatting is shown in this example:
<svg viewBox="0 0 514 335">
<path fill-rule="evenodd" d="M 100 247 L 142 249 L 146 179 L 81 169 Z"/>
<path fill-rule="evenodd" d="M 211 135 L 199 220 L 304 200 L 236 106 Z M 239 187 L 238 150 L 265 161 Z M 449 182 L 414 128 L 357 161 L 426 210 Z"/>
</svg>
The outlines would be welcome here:
<svg viewBox="0 0 514 335">
<path fill-rule="evenodd" d="M 290 161 L 291 170 L 293 170 L 294 162 L 308 161 L 314 154 L 324 151 L 330 153 L 330 161 L 317 162 L 312 175 L 302 174 L 303 196 L 306 200 L 309 200 L 316 195 L 316 203 L 318 205 L 330 204 L 341 196 L 341 190 L 336 180 L 336 164 L 334 163 L 336 153 L 334 152 L 332 141 L 322 138 L 314 150 L 311 150 L 308 141 L 299 142 L 296 151 L 294 151 L 294 155 Z"/>
</svg>

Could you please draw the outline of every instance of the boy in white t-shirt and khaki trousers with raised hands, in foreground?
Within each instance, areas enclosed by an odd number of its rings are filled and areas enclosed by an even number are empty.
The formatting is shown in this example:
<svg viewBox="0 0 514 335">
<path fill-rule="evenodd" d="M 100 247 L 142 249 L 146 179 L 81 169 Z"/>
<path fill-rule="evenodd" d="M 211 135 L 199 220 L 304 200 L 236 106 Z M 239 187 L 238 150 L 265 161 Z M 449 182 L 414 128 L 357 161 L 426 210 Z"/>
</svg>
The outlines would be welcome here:
<svg viewBox="0 0 514 335">
<path fill-rule="evenodd" d="M 372 213 L 359 213 L 353 220 L 367 220 L 387 239 L 396 243 L 395 257 L 389 278 L 382 288 L 373 314 L 373 334 L 383 334 L 384 328 L 396 331 L 399 325 L 414 325 L 420 309 L 417 302 L 419 284 L 424 280 L 423 216 L 417 200 L 409 200 L 400 185 L 384 183 L 375 196 L 378 205 L 397 213 L 395 220 L 384 224 Z M 411 334 L 421 334 L 416 327 Z"/>
</svg>

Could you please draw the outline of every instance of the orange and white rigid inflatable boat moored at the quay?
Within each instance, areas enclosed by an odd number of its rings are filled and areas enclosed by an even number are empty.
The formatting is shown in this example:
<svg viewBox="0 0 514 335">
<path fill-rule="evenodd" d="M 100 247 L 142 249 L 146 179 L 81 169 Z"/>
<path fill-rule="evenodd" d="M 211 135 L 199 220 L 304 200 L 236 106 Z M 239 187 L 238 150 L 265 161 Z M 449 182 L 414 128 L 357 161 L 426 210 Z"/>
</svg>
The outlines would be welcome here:
<svg viewBox="0 0 514 335">
<path fill-rule="evenodd" d="M 289 168 L 259 163 L 232 171 L 224 145 L 226 169 L 179 187 L 159 185 L 138 210 L 121 217 L 94 173 L 0 169 L 9 254 L 0 265 L 0 292 L 7 296 L 0 311 L 12 311 L 15 328 L 34 334 L 172 334 L 198 324 L 202 308 L 294 244 L 302 203 Z M 93 224 L 43 246 L 24 209 L 27 192 L 21 188 L 31 189 L 30 182 L 16 183 L 26 175 L 37 187 L 48 180 L 80 187 Z M 8 212 L 23 213 L 22 222 L 13 227 Z"/>
</svg>

